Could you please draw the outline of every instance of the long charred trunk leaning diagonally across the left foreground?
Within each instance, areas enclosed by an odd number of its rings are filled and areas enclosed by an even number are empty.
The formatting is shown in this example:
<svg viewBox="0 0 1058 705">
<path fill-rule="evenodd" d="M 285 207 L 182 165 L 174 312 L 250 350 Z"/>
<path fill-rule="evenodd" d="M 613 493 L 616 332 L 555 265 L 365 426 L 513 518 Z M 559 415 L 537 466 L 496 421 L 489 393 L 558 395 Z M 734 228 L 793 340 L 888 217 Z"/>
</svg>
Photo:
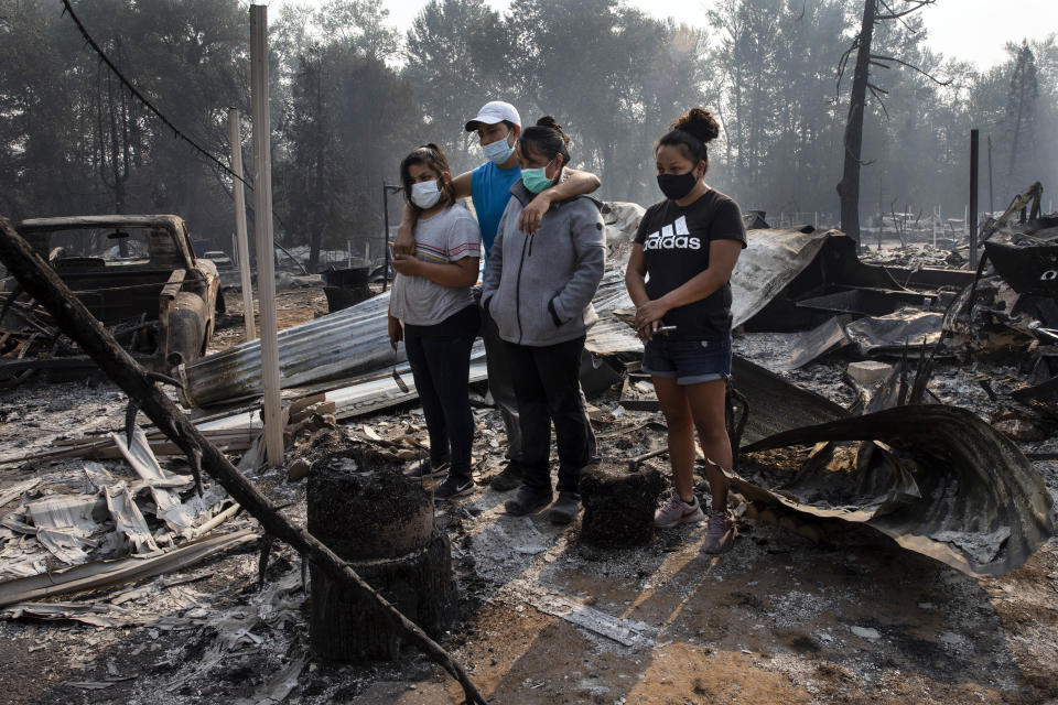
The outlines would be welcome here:
<svg viewBox="0 0 1058 705">
<path fill-rule="evenodd" d="M 153 379 L 147 371 L 115 341 L 44 260 L 11 228 L 7 218 L 2 217 L 0 261 L 14 273 L 29 294 L 47 308 L 63 333 L 76 340 L 129 399 L 139 403 L 159 430 L 180 446 L 193 468 L 201 466 L 216 479 L 235 501 L 261 523 L 268 534 L 285 541 L 295 551 L 307 556 L 343 587 L 363 595 L 371 609 L 386 615 L 392 629 L 402 631 L 411 643 L 452 674 L 460 682 L 469 702 L 486 705 L 485 698 L 471 682 L 466 671 L 453 661 L 444 649 L 378 595 L 319 539 L 283 517 L 271 500 L 239 474 L 231 462 L 199 433 L 176 404 L 154 387 Z"/>
</svg>

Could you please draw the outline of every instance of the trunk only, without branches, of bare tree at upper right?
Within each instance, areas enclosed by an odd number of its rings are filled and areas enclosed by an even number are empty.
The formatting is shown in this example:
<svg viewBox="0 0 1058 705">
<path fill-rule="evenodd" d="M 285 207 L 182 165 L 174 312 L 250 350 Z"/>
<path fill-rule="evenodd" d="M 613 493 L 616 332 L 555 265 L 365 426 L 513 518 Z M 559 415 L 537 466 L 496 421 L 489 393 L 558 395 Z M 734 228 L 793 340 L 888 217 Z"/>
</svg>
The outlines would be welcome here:
<svg viewBox="0 0 1058 705">
<path fill-rule="evenodd" d="M 838 183 L 841 198 L 841 229 L 860 243 L 860 154 L 863 149 L 863 112 L 867 99 L 867 78 L 871 68 L 871 40 L 874 35 L 876 0 L 864 0 L 863 23 L 860 26 L 856 66 L 852 76 L 849 117 L 845 121 L 844 167 Z"/>
</svg>

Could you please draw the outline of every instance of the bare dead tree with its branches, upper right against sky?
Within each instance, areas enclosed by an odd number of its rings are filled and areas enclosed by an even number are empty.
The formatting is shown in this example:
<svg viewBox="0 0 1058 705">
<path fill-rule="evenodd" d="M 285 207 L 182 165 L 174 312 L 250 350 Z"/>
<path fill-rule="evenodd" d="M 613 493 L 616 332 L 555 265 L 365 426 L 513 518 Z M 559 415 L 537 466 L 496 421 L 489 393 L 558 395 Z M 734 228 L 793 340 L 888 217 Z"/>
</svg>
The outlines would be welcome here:
<svg viewBox="0 0 1058 705">
<path fill-rule="evenodd" d="M 883 111 L 885 110 L 885 104 L 882 102 L 882 96 L 887 94 L 886 90 L 872 83 L 871 67 L 877 66 L 888 69 L 895 64 L 918 72 L 941 86 L 947 86 L 951 83 L 950 80 L 935 78 L 918 66 L 909 64 L 896 56 L 872 54 L 871 43 L 874 39 L 875 25 L 881 22 L 899 21 L 908 31 L 914 32 L 916 30 L 908 25 L 904 18 L 935 2 L 936 0 L 903 0 L 904 6 L 900 9 L 894 9 L 896 0 L 864 0 L 863 21 L 860 24 L 860 32 L 838 63 L 838 85 L 840 86 L 841 79 L 849 66 L 849 59 L 853 52 L 855 52 L 856 63 L 852 75 L 849 117 L 845 121 L 844 166 L 842 169 L 841 181 L 838 182 L 838 196 L 841 198 L 841 229 L 857 243 L 860 242 L 860 167 L 870 164 L 870 162 L 863 162 L 861 159 L 863 147 L 863 112 L 868 90 L 871 95 L 882 104 Z"/>
</svg>

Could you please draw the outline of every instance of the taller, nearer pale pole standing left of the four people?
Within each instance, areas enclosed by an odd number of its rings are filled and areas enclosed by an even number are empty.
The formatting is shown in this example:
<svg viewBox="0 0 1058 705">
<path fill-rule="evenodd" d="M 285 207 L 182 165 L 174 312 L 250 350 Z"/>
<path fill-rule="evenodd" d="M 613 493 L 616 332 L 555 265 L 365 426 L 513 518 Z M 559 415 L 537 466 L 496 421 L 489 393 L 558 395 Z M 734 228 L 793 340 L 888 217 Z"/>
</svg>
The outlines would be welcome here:
<svg viewBox="0 0 1058 705">
<path fill-rule="evenodd" d="M 268 465 L 283 464 L 279 402 L 279 343 L 276 337 L 276 257 L 272 245 L 271 118 L 268 112 L 268 8 L 250 6 L 250 95 L 253 113 L 253 205 L 257 289 L 261 306 L 261 380 L 264 387 L 264 449 Z"/>
</svg>

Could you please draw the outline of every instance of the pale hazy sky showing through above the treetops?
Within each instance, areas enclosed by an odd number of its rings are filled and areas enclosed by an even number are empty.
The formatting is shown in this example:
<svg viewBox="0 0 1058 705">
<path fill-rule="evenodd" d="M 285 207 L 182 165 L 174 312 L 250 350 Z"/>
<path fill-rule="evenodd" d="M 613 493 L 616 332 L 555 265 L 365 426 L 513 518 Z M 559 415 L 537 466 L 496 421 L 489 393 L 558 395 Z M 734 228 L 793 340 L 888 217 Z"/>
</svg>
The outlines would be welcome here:
<svg viewBox="0 0 1058 705">
<path fill-rule="evenodd" d="M 322 4 L 325 0 L 255 0 L 278 9 L 284 2 Z M 510 0 L 485 0 L 504 11 Z M 811 2 L 812 0 L 806 0 Z M 629 0 L 629 4 L 658 18 L 673 17 L 689 24 L 705 24 L 705 10 L 716 0 Z M 862 0 L 848 0 L 863 7 Z M 382 0 L 391 23 L 407 29 L 427 0 Z M 896 0 L 896 4 L 903 4 Z M 938 0 L 920 10 L 933 51 L 986 68 L 1006 58 L 1007 41 L 1043 39 L 1058 32 L 1058 0 Z M 271 12 L 269 13 L 271 14 Z"/>
</svg>

